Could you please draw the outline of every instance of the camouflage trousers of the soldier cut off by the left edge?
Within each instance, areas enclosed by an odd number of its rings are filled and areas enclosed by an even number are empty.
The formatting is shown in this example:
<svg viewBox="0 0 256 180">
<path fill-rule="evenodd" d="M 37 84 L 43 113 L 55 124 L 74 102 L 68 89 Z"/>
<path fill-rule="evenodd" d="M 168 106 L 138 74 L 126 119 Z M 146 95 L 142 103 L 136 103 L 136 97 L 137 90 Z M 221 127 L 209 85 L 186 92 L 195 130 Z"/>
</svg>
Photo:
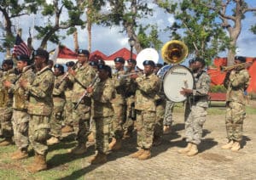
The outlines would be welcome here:
<svg viewBox="0 0 256 180">
<path fill-rule="evenodd" d="M 0 108 L 0 136 L 3 138 L 12 138 L 14 135 L 12 115 L 12 108 Z"/>
</svg>

